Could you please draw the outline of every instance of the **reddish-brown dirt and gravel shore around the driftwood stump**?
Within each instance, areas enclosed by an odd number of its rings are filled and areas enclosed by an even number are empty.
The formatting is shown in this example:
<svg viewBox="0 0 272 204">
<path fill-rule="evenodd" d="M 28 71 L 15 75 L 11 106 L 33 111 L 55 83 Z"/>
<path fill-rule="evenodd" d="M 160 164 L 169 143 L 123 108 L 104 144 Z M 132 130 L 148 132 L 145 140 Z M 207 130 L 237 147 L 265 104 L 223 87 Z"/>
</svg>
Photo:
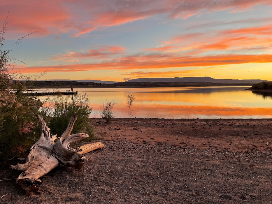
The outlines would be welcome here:
<svg viewBox="0 0 272 204">
<path fill-rule="evenodd" d="M 272 203 L 272 119 L 92 123 L 105 147 L 81 169 L 55 168 L 35 192 L 3 169 L 0 203 Z"/>
</svg>

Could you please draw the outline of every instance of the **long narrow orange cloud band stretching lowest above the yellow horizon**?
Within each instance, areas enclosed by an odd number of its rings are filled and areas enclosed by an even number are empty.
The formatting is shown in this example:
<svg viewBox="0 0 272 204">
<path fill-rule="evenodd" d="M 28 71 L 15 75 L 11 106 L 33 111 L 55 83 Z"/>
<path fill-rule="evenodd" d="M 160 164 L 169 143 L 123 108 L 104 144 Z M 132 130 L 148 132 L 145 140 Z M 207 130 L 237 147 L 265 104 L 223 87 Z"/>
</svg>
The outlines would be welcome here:
<svg viewBox="0 0 272 204">
<path fill-rule="evenodd" d="M 243 63 L 271 63 L 272 55 L 214 55 L 205 57 L 183 57 L 171 55 L 129 56 L 112 61 L 89 64 L 69 64 L 56 66 L 18 66 L 14 71 L 20 73 L 75 72 L 89 70 L 132 70 L 152 68 L 174 68 L 189 66 L 216 66 Z"/>
</svg>

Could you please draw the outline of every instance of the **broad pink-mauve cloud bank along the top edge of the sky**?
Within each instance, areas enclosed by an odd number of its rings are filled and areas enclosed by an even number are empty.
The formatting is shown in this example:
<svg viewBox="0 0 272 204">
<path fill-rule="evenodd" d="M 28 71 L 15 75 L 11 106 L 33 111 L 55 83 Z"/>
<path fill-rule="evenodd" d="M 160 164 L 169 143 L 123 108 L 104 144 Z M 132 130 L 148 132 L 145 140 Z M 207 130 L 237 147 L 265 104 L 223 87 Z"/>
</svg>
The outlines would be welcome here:
<svg viewBox="0 0 272 204">
<path fill-rule="evenodd" d="M 2 0 L 0 19 L 10 11 L 9 30 L 37 35 L 90 33 L 99 27 L 110 27 L 142 20 L 155 15 L 188 18 L 220 10 L 248 10 L 257 5 L 272 5 L 271 0 Z"/>
</svg>

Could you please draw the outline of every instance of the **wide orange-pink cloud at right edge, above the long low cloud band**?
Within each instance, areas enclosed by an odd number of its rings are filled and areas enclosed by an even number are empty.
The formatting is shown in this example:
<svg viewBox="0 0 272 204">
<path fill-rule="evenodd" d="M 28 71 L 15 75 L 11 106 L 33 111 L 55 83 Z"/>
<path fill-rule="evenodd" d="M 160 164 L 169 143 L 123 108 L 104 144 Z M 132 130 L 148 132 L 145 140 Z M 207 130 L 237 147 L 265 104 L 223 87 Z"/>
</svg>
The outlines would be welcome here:
<svg viewBox="0 0 272 204">
<path fill-rule="evenodd" d="M 204 54 L 208 51 L 231 50 L 235 53 L 239 50 L 257 52 L 271 50 L 272 26 L 248 27 L 242 29 L 228 29 L 208 33 L 191 33 L 176 36 L 162 44 L 160 48 L 147 48 L 148 51 L 160 51 L 165 53 L 186 53 L 186 55 Z"/>
</svg>

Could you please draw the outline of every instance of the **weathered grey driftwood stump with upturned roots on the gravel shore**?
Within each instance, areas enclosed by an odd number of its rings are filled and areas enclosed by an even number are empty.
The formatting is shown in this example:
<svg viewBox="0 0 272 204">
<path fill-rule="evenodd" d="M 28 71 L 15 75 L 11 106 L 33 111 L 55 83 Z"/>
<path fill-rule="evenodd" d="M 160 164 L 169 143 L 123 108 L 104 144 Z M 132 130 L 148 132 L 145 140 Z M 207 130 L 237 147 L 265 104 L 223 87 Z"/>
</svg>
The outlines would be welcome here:
<svg viewBox="0 0 272 204">
<path fill-rule="evenodd" d="M 37 117 L 41 122 L 39 140 L 30 148 L 26 163 L 11 165 L 13 169 L 24 171 L 19 175 L 16 183 L 27 191 L 35 191 L 37 186 L 42 183 L 39 178 L 57 167 L 59 163 L 67 167 L 81 168 L 87 161 L 82 154 L 104 147 L 103 143 L 87 144 L 76 150 L 69 147 L 71 143 L 89 137 L 85 133 L 70 135 L 76 122 L 76 115 L 71 117 L 66 130 L 56 143 L 57 135 L 50 136 L 50 128 L 46 125 L 43 117 L 41 115 L 37 115 Z"/>
</svg>

